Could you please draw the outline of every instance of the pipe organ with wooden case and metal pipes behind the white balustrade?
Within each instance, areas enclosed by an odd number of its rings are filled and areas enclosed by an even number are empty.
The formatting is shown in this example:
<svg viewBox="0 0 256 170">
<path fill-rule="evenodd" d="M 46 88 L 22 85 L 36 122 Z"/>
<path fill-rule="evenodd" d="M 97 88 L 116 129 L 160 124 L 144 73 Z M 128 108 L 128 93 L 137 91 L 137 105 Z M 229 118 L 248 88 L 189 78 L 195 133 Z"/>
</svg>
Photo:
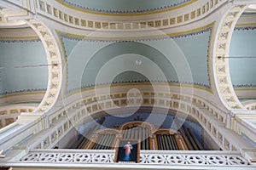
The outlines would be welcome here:
<svg viewBox="0 0 256 170">
<path fill-rule="evenodd" d="M 170 129 L 155 129 L 154 125 L 145 122 L 129 122 L 118 130 L 108 128 L 90 133 L 90 139 L 80 141 L 78 149 L 113 150 L 118 139 L 137 139 L 141 150 L 203 150 L 195 134 L 186 127 L 175 132 Z"/>
</svg>

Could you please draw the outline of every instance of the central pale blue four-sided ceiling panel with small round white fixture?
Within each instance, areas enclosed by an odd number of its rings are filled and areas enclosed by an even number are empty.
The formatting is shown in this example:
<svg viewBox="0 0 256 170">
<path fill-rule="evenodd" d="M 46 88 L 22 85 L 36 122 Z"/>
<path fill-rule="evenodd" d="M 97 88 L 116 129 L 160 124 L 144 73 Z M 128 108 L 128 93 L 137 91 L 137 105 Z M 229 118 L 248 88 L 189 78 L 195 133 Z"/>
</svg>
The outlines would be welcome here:
<svg viewBox="0 0 256 170">
<path fill-rule="evenodd" d="M 95 85 L 131 82 L 183 84 L 211 91 L 208 61 L 212 27 L 127 41 L 91 40 L 59 32 L 67 60 L 67 93 Z M 118 62 L 119 58 L 123 60 Z M 142 65 L 137 65 L 137 59 Z M 102 68 L 112 70 L 106 72 Z"/>
</svg>

